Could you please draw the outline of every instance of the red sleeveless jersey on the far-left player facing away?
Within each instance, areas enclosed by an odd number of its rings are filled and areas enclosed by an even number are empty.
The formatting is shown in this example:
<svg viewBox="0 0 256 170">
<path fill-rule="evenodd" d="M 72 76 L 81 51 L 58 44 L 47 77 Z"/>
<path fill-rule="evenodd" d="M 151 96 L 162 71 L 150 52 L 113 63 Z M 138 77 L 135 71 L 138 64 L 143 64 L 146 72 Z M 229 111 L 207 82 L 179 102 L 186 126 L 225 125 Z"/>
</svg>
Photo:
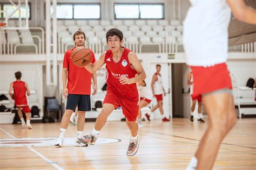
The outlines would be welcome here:
<svg viewBox="0 0 256 170">
<path fill-rule="evenodd" d="M 26 87 L 24 81 L 15 81 L 14 83 L 14 101 L 17 107 L 28 105 L 26 98 Z"/>
</svg>

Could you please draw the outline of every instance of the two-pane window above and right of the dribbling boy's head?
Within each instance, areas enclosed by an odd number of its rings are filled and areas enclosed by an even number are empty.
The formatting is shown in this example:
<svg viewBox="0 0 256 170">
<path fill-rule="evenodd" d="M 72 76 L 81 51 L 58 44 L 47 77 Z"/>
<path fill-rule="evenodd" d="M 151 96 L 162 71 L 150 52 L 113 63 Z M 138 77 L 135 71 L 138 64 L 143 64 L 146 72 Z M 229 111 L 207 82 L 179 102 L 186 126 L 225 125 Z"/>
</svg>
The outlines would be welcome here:
<svg viewBox="0 0 256 170">
<path fill-rule="evenodd" d="M 114 4 L 116 19 L 164 19 L 164 4 Z"/>
</svg>

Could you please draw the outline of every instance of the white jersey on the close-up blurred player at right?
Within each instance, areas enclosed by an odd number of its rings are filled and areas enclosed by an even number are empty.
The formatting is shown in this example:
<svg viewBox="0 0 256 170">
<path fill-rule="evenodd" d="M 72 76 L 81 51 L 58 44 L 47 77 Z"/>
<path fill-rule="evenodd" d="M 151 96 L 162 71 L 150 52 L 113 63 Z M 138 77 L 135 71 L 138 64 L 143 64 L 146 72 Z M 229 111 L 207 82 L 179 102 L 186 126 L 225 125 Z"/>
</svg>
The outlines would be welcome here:
<svg viewBox="0 0 256 170">
<path fill-rule="evenodd" d="M 184 21 L 184 49 L 189 66 L 226 62 L 231 9 L 225 0 L 190 0 Z"/>
</svg>

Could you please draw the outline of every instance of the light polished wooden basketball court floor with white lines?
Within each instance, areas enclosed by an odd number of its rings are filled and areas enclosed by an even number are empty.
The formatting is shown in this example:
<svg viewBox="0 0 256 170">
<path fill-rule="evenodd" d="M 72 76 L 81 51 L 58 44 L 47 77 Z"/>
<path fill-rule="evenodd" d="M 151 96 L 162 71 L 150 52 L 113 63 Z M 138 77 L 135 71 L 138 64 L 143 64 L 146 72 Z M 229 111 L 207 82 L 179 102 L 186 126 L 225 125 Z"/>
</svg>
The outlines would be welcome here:
<svg viewBox="0 0 256 170">
<path fill-rule="evenodd" d="M 85 123 L 84 133 L 90 133 L 94 124 Z M 88 147 L 72 145 L 76 126 L 70 124 L 65 137 L 72 142 L 62 148 L 53 146 L 60 123 L 32 125 L 33 130 L 22 129 L 20 124 L 0 125 L 1 169 L 185 169 L 196 152 L 207 122 L 190 123 L 185 118 L 165 123 L 160 120 L 143 122 L 143 128 L 139 129 L 139 150 L 133 157 L 126 156 L 130 132 L 125 122 L 107 122 L 99 136 L 99 141 L 106 144 Z M 45 141 L 50 144 L 36 146 Z M 213 169 L 256 169 L 255 118 L 238 120 L 221 144 Z"/>
</svg>

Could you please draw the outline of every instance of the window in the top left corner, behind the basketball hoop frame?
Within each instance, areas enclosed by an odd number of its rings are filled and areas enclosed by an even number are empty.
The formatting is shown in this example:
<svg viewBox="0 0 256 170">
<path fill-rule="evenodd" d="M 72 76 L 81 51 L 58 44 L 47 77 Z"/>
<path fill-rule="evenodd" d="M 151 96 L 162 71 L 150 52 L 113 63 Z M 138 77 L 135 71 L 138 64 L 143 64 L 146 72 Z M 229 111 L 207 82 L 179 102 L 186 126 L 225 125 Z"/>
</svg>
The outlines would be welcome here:
<svg viewBox="0 0 256 170">
<path fill-rule="evenodd" d="M 17 7 L 12 5 L 12 4 L 4 4 L 4 18 L 8 17 L 11 15 L 12 12 L 14 12 Z M 28 17 L 30 18 L 30 6 L 28 5 Z M 11 16 L 11 18 L 19 18 L 19 10 L 17 10 L 14 15 Z M 25 4 L 21 5 L 21 18 L 26 18 L 26 6 Z"/>
</svg>

